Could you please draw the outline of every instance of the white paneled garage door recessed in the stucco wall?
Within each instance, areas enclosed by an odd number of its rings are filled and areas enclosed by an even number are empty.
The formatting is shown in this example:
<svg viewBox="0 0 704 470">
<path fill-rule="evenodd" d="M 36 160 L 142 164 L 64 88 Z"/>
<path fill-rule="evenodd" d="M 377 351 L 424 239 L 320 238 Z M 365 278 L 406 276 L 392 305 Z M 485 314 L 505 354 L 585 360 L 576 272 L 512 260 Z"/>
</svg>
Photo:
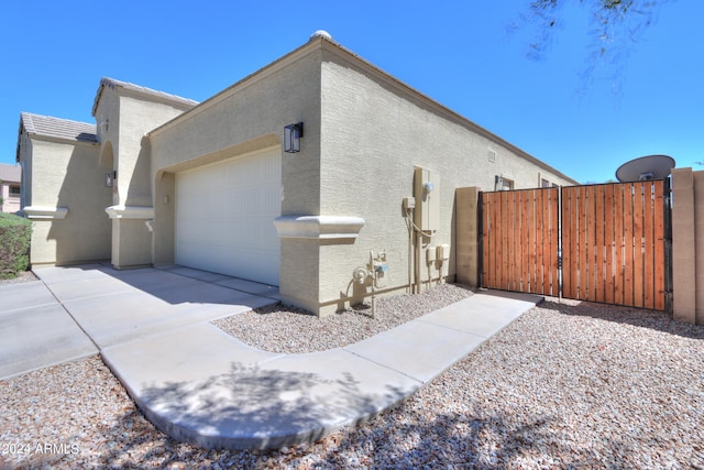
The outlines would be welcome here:
<svg viewBox="0 0 704 470">
<path fill-rule="evenodd" d="M 280 149 L 176 174 L 176 263 L 278 285 Z"/>
</svg>

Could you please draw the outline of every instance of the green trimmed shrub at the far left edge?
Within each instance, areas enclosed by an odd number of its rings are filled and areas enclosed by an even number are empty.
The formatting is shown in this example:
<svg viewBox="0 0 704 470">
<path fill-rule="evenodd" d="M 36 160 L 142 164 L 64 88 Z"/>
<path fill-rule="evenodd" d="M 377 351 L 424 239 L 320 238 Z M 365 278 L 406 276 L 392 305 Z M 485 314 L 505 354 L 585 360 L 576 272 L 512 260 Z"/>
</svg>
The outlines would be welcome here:
<svg viewBox="0 0 704 470">
<path fill-rule="evenodd" d="M 32 222 L 0 212 L 0 278 L 15 277 L 30 267 Z"/>
</svg>

